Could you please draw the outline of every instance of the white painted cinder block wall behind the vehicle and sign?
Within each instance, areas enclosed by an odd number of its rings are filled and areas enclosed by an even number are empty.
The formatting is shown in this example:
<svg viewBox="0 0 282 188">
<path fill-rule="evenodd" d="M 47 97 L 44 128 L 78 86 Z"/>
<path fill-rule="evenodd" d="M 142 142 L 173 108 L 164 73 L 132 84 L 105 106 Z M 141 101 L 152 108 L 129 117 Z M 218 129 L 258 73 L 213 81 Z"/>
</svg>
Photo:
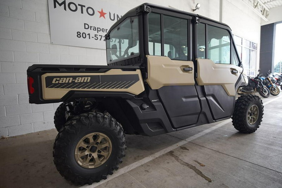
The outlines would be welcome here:
<svg viewBox="0 0 282 188">
<path fill-rule="evenodd" d="M 127 10 L 145 3 L 143 0 L 106 2 Z M 150 0 L 150 3 L 187 12 L 192 12 L 196 3 L 201 3 L 200 10 L 195 13 L 219 21 L 218 0 Z M 242 1 L 223 0 L 223 10 L 234 7 L 234 12 L 240 6 L 243 6 Z M 259 44 L 260 19 L 248 8 L 245 11 L 248 12 L 239 10 L 230 16 L 227 16 L 228 11 L 223 11 L 223 18 L 226 18 L 223 22 Z M 243 25 L 234 14 L 244 18 Z M 245 29 L 254 33 L 243 32 Z M 51 44 L 47 0 L 0 0 L 0 136 L 55 128 L 53 117 L 59 103 L 29 104 L 26 69 L 32 64 L 106 65 L 106 52 Z"/>
</svg>

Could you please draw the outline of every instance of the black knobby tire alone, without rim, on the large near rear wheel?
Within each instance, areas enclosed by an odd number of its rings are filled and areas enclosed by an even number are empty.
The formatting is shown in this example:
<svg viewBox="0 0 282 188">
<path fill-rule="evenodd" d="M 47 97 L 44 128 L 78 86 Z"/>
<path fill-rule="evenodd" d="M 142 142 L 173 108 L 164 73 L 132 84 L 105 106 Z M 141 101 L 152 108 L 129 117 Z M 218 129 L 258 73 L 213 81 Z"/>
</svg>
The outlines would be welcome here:
<svg viewBox="0 0 282 188">
<path fill-rule="evenodd" d="M 115 139 L 118 141 L 116 158 L 110 161 L 110 165 L 102 165 L 102 170 L 97 173 L 89 173 L 87 175 L 75 173 L 72 166 L 67 162 L 69 160 L 68 158 L 71 157 L 69 156 L 71 153 L 66 148 L 68 148 L 74 137 L 79 136 L 81 130 L 95 130 L 95 127 L 112 131 Z M 122 163 L 122 158 L 125 156 L 125 144 L 123 128 L 113 117 L 98 112 L 80 114 L 68 121 L 59 131 L 53 146 L 54 164 L 66 180 L 76 185 L 91 185 L 93 182 L 107 179 L 107 175 L 111 175 L 113 170 L 118 170 L 118 164 Z M 74 156 L 72 157 L 74 158 Z"/>
</svg>

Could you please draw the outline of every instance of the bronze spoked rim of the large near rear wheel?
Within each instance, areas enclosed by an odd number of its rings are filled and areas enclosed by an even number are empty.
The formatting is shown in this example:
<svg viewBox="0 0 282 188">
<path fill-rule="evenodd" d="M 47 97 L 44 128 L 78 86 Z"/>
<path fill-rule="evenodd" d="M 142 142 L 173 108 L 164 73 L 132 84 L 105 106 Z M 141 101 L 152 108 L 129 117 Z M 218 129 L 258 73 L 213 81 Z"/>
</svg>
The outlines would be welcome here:
<svg viewBox="0 0 282 188">
<path fill-rule="evenodd" d="M 102 133 L 90 133 L 76 145 L 76 162 L 84 168 L 97 168 L 104 164 L 112 153 L 110 138 Z"/>
</svg>

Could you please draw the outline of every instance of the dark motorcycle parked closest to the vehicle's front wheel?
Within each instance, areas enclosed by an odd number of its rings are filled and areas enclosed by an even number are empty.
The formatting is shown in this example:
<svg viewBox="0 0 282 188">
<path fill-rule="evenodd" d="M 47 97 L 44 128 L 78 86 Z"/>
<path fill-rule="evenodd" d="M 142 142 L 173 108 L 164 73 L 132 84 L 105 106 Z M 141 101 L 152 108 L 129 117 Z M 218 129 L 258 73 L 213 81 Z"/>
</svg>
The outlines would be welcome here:
<svg viewBox="0 0 282 188">
<path fill-rule="evenodd" d="M 259 74 L 255 78 L 248 76 L 248 85 L 240 88 L 238 94 L 251 94 L 258 91 L 262 97 L 269 97 L 270 91 L 259 79 L 259 76 Z"/>
</svg>

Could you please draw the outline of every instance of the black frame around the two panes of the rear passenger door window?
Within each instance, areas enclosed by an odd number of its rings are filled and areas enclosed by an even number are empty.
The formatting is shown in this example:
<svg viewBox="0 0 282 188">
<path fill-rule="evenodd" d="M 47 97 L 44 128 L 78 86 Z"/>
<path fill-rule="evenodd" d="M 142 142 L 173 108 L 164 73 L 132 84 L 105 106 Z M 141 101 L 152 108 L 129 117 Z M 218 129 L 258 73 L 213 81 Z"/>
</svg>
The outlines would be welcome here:
<svg viewBox="0 0 282 188">
<path fill-rule="evenodd" d="M 192 61 L 192 27 L 191 27 L 191 19 L 192 16 L 187 15 L 187 14 L 182 14 L 182 13 L 175 13 L 175 12 L 170 12 L 166 10 L 161 10 L 154 8 L 153 11 L 150 13 L 157 13 L 160 14 L 160 27 L 161 27 L 161 56 L 166 56 L 165 55 L 165 40 L 164 40 L 164 15 L 165 16 L 171 16 L 175 18 L 180 18 L 180 19 L 185 19 L 187 20 L 187 47 L 188 47 L 188 52 L 187 52 L 187 60 L 179 60 L 179 61 Z M 150 14 L 149 13 L 149 14 Z M 146 35 L 144 35 L 144 51 L 146 55 L 150 55 L 149 53 L 149 14 L 144 15 L 144 32 L 146 32 Z"/>
</svg>

